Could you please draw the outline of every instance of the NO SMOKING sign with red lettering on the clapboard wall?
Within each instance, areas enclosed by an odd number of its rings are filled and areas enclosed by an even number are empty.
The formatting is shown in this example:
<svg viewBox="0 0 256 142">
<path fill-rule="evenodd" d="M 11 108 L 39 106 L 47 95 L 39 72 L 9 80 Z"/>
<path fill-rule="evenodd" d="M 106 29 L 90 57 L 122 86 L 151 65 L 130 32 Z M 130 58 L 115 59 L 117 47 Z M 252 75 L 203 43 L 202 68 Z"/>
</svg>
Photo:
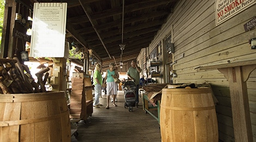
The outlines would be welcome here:
<svg viewBox="0 0 256 142">
<path fill-rule="evenodd" d="M 216 26 L 229 18 L 239 14 L 241 11 L 251 7 L 256 0 L 216 0 L 215 20 Z"/>
</svg>

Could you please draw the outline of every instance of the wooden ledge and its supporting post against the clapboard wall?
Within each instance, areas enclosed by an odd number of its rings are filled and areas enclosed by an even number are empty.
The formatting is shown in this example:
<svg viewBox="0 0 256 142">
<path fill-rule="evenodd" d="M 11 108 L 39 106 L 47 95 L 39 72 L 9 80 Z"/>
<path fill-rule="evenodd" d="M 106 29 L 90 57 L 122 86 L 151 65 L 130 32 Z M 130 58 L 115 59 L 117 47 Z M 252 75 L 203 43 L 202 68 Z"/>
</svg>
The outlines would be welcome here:
<svg viewBox="0 0 256 142">
<path fill-rule="evenodd" d="M 256 60 L 200 67 L 218 69 L 229 81 L 235 141 L 253 141 L 246 81 L 256 69 Z"/>
</svg>

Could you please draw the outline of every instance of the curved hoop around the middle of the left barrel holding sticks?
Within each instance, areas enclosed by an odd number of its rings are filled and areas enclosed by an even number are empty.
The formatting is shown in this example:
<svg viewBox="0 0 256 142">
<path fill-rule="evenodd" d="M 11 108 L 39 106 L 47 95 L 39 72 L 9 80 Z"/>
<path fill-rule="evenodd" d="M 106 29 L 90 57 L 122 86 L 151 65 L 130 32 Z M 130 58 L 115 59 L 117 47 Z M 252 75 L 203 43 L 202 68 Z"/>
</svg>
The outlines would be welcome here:
<svg viewBox="0 0 256 142">
<path fill-rule="evenodd" d="M 1 121 L 0 122 L 0 127 L 4 126 L 15 126 L 15 125 L 24 125 L 24 124 L 33 124 L 35 122 L 43 122 L 43 121 L 48 121 L 52 119 L 57 119 L 57 118 L 62 118 L 63 116 L 68 113 L 69 110 L 66 110 L 65 112 L 59 113 L 59 114 L 54 114 L 51 116 L 47 116 L 44 118 L 34 118 L 34 119 L 25 119 L 25 120 L 14 120 L 14 121 Z M 60 115 L 60 116 L 59 116 Z"/>
</svg>

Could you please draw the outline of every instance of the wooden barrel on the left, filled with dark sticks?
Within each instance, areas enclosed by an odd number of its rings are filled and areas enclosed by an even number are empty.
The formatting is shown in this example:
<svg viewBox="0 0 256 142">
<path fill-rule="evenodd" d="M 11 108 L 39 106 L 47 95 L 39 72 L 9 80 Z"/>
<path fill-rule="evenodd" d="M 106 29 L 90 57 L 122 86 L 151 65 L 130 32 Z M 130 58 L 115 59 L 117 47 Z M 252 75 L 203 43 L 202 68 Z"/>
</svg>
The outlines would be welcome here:
<svg viewBox="0 0 256 142">
<path fill-rule="evenodd" d="M 0 94 L 0 141 L 71 141 L 64 91 Z"/>
</svg>

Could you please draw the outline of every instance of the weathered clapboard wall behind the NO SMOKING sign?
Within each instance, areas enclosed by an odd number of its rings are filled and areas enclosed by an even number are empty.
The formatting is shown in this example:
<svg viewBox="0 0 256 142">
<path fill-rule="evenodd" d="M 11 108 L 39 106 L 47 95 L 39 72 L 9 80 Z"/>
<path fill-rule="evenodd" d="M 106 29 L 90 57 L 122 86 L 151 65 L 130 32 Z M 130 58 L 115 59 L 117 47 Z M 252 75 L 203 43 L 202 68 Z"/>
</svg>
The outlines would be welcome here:
<svg viewBox="0 0 256 142">
<path fill-rule="evenodd" d="M 199 70 L 199 66 L 231 63 L 240 60 L 256 59 L 248 40 L 256 38 L 256 29 L 245 32 L 243 24 L 256 16 L 256 4 L 216 26 L 215 1 L 181 0 L 163 24 L 147 50 L 152 51 L 167 35 L 172 35 L 174 43 L 173 69 L 177 73 L 174 83 L 210 83 L 218 103 L 216 105 L 220 141 L 234 141 L 233 119 L 229 94 L 229 82 L 224 75 L 215 70 Z M 163 43 L 163 42 L 162 42 Z M 164 46 L 164 45 L 163 45 Z M 164 51 L 163 53 L 166 52 Z M 145 49 L 143 49 L 145 50 Z M 143 53 L 143 54 L 142 54 Z M 143 61 L 145 52 L 138 56 Z M 184 57 L 181 58 L 181 55 Z M 147 54 L 148 55 L 148 54 Z M 164 55 L 163 72 L 166 73 Z M 165 81 L 165 79 L 164 79 Z M 251 114 L 253 140 L 256 141 L 256 70 L 248 81 L 249 109 Z"/>
</svg>

